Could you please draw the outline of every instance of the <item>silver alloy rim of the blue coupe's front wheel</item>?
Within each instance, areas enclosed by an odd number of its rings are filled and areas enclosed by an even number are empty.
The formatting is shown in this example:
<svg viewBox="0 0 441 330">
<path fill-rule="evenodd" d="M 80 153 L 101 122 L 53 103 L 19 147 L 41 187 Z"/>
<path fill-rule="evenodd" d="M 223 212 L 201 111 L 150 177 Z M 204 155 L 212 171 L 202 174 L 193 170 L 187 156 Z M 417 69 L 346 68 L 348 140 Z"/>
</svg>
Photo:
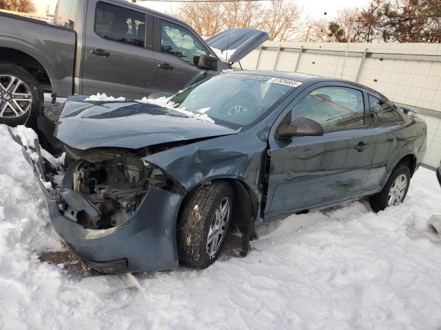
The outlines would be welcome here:
<svg viewBox="0 0 441 330">
<path fill-rule="evenodd" d="M 209 226 L 207 245 L 207 254 L 212 257 L 220 248 L 220 244 L 227 233 L 229 218 L 232 210 L 232 201 L 225 197 L 220 201 L 218 208 L 214 212 L 212 223 Z"/>
</svg>

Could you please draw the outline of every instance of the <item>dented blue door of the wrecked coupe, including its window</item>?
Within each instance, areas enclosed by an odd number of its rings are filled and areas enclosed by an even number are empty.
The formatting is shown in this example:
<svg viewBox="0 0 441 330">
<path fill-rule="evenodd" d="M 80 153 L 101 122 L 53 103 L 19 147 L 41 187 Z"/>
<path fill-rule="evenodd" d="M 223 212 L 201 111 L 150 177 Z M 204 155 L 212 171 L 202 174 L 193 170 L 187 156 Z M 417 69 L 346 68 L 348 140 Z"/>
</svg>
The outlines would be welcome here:
<svg viewBox="0 0 441 330">
<path fill-rule="evenodd" d="M 265 218 L 356 199 L 371 168 L 375 131 L 367 94 L 344 83 L 316 83 L 291 104 L 269 135 Z M 280 122 L 309 118 L 324 135 L 277 139 Z"/>
</svg>

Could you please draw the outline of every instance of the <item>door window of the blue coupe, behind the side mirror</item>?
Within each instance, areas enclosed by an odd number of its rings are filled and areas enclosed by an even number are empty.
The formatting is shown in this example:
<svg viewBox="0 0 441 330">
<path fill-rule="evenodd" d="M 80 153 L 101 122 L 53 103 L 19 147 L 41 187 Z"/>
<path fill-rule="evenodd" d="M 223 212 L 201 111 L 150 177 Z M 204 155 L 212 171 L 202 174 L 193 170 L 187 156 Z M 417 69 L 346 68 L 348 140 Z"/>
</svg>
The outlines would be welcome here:
<svg viewBox="0 0 441 330">
<path fill-rule="evenodd" d="M 308 118 L 325 132 L 352 129 L 365 124 L 363 94 L 348 87 L 321 87 L 311 91 L 291 111 L 291 120 Z"/>
</svg>

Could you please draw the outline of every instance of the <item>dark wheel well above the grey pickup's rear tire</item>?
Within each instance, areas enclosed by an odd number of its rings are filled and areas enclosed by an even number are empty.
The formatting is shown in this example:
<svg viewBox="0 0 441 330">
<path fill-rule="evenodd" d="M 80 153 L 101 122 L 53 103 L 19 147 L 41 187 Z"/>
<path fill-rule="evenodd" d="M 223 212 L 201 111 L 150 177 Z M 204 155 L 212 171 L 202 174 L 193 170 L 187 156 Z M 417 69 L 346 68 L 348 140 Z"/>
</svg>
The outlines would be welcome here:
<svg viewBox="0 0 441 330">
<path fill-rule="evenodd" d="M 23 67 L 32 76 L 34 76 L 44 91 L 52 91 L 52 83 L 46 69 L 35 58 L 13 48 L 0 47 L 0 62 L 14 63 Z"/>
</svg>

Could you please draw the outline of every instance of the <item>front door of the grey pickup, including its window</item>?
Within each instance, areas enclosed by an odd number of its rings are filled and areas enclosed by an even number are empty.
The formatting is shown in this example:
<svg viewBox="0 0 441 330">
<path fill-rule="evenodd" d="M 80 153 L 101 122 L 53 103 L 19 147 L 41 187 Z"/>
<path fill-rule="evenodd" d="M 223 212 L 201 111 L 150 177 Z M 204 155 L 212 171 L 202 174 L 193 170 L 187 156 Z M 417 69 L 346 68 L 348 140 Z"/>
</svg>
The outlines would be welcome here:
<svg viewBox="0 0 441 330">
<path fill-rule="evenodd" d="M 163 17 L 155 17 L 154 23 L 152 91 L 175 93 L 203 71 L 197 66 L 199 56 L 210 51 L 185 25 Z"/>
</svg>

